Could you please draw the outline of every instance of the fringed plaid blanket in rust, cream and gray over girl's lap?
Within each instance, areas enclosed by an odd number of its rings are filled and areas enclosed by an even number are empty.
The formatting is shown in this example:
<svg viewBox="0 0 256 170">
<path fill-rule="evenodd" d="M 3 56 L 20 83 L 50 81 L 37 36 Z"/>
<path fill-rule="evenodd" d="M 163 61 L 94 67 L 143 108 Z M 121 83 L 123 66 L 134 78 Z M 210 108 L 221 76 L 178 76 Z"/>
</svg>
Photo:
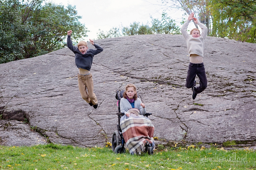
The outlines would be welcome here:
<svg viewBox="0 0 256 170">
<path fill-rule="evenodd" d="M 133 108 L 127 112 L 131 113 L 131 116 L 122 116 L 120 126 L 129 152 L 131 154 L 140 154 L 144 152 L 146 144 L 152 146 L 153 151 L 155 149 L 153 141 L 154 125 L 148 117 L 141 115 L 138 109 Z"/>
</svg>

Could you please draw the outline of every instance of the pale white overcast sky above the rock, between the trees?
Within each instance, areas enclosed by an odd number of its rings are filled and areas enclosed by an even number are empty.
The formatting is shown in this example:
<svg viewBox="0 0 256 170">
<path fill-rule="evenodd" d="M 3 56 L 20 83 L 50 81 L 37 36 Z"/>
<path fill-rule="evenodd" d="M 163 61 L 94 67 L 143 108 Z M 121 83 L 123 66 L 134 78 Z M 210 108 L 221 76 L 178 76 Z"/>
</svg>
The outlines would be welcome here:
<svg viewBox="0 0 256 170">
<path fill-rule="evenodd" d="M 55 4 L 75 5 L 80 22 L 85 24 L 90 31 L 87 33 L 86 41 L 97 39 L 97 32 L 109 31 L 112 27 L 129 26 L 133 22 L 143 24 L 150 23 L 153 18 L 161 19 L 164 6 L 161 0 L 48 0 Z M 167 10 L 168 16 L 176 21 L 180 26 L 183 11 L 171 9 Z M 187 16 L 188 17 L 188 16 Z M 186 17 L 186 18 L 187 18 Z M 191 24 L 191 23 L 190 23 Z"/>
</svg>

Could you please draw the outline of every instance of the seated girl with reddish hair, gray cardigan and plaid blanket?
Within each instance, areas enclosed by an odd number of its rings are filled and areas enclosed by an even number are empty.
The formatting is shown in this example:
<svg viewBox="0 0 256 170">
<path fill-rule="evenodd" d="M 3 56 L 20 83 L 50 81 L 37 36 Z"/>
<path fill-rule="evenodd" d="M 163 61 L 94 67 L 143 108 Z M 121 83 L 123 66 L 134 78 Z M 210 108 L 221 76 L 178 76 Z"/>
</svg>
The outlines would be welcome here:
<svg viewBox="0 0 256 170">
<path fill-rule="evenodd" d="M 155 127 L 148 117 L 144 117 L 146 107 L 144 103 L 141 103 L 133 84 L 128 84 L 125 87 L 123 98 L 120 101 L 120 110 L 125 113 L 120 119 L 120 127 L 129 152 L 141 154 L 141 152 L 145 152 L 147 145 L 153 153 Z"/>
</svg>

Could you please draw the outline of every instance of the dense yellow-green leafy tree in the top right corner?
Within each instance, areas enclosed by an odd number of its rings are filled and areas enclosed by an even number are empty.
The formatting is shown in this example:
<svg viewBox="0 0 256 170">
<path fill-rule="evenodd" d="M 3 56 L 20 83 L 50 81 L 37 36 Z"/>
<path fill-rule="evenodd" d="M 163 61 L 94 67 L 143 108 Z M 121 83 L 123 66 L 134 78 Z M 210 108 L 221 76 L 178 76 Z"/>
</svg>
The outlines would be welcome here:
<svg viewBox="0 0 256 170">
<path fill-rule="evenodd" d="M 212 36 L 256 43 L 256 0 L 212 0 Z"/>
</svg>

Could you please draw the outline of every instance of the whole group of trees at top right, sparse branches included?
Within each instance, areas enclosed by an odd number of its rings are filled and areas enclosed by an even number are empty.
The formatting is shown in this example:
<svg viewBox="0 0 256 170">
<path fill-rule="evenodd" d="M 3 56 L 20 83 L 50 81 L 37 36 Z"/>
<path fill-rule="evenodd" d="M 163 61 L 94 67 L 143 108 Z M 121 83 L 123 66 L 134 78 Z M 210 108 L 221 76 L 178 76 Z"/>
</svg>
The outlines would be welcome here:
<svg viewBox="0 0 256 170">
<path fill-rule="evenodd" d="M 208 35 L 256 43 L 256 0 L 162 0 L 180 8 L 208 28 Z"/>
</svg>

